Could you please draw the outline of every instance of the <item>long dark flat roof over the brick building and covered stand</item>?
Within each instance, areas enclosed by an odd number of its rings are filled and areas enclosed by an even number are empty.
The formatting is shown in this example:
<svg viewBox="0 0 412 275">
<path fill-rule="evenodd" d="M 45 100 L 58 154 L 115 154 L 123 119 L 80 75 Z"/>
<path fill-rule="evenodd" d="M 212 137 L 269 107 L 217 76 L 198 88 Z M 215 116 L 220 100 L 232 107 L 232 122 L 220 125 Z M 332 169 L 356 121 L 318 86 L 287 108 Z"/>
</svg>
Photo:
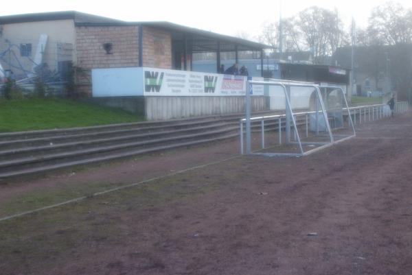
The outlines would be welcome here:
<svg viewBox="0 0 412 275">
<path fill-rule="evenodd" d="M 203 29 L 187 27 L 170 23 L 167 21 L 149 21 L 149 22 L 128 22 L 117 19 L 111 19 L 93 14 L 86 14 L 76 11 L 62 12 L 43 12 L 34 14 L 16 14 L 0 16 L 0 25 L 12 23 L 25 23 L 35 21 L 55 21 L 71 19 L 77 26 L 109 26 L 109 25 L 144 25 L 146 27 L 155 27 L 164 29 L 172 33 L 174 38 L 187 38 L 191 41 L 193 52 L 217 51 L 258 51 L 270 46 L 262 43 L 256 43 L 250 40 L 208 32 Z M 219 41 L 219 46 L 218 46 Z"/>
</svg>

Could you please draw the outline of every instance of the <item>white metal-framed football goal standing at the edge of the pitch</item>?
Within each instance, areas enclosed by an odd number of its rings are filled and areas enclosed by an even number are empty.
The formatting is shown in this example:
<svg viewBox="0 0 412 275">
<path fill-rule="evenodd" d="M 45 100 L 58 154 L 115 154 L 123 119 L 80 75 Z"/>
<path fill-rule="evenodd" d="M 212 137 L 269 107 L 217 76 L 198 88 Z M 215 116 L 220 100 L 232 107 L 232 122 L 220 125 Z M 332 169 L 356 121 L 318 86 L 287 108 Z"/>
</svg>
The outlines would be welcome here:
<svg viewBox="0 0 412 275">
<path fill-rule="evenodd" d="M 283 94 L 284 97 L 284 112 L 264 117 L 251 117 L 251 95 L 254 85 L 277 87 L 275 93 Z M 343 112 L 347 112 L 347 115 L 343 115 Z M 347 119 L 347 128 L 343 125 L 345 119 Z M 256 130 L 259 122 L 260 130 Z M 334 132 L 332 132 L 330 122 L 334 127 Z M 354 123 L 343 88 L 311 82 L 248 80 L 245 118 L 240 121 L 242 153 L 244 149 L 243 123 L 245 123 L 246 133 L 246 154 L 304 156 L 355 136 Z M 349 132 L 345 132 L 345 129 Z M 271 132 L 274 131 L 277 134 L 273 136 L 277 136 L 279 142 L 274 147 L 270 144 L 267 146 L 265 139 L 271 137 Z M 252 150 L 253 143 L 255 143 L 255 140 L 252 140 L 252 132 L 260 132 L 262 140 L 260 150 Z M 284 136 L 283 143 L 282 135 Z M 273 136 L 271 141 L 273 141 Z"/>
</svg>

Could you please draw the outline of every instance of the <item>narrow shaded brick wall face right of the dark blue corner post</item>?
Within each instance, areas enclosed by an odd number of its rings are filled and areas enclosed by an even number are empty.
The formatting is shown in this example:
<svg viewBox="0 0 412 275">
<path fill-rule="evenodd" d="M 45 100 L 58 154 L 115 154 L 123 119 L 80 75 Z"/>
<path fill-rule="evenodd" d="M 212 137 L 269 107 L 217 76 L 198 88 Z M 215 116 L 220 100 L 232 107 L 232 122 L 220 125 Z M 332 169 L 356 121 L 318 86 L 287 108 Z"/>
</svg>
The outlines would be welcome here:
<svg viewBox="0 0 412 275">
<path fill-rule="evenodd" d="M 143 28 L 143 66 L 172 69 L 172 36 L 152 27 Z"/>
</svg>

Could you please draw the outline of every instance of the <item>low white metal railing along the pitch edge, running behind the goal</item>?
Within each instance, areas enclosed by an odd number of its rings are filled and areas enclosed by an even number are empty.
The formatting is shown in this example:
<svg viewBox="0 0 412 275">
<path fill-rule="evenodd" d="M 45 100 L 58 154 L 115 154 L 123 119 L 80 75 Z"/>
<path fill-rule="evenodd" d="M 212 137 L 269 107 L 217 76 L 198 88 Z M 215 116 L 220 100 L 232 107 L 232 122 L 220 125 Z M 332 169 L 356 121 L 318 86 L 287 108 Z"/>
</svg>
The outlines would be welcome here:
<svg viewBox="0 0 412 275">
<path fill-rule="evenodd" d="M 345 115 L 350 115 L 351 117 L 353 116 L 353 119 L 347 119 L 348 127 L 350 127 L 350 123 L 356 123 L 361 124 L 362 122 L 365 123 L 366 121 L 374 121 L 377 119 L 382 119 L 384 117 L 390 117 L 391 112 L 390 111 L 385 111 L 385 106 L 387 104 L 374 104 L 374 105 L 365 105 L 365 106 L 356 106 L 356 107 L 350 107 L 350 108 L 342 108 L 342 110 L 345 112 Z M 388 106 L 389 107 L 389 106 Z M 400 114 L 402 112 L 407 112 L 409 110 L 409 104 L 407 101 L 398 101 L 396 102 L 396 106 L 394 108 L 394 112 L 396 114 Z M 318 114 L 323 111 L 319 110 Z M 349 112 L 349 114 L 348 114 Z M 305 134 L 306 138 L 308 138 L 308 115 L 310 114 L 315 114 L 316 111 L 309 111 L 309 112 L 294 112 L 293 117 L 296 119 L 296 117 L 305 117 L 304 119 L 304 125 L 305 125 Z M 250 121 L 260 121 L 260 135 L 261 135 L 261 147 L 262 149 L 265 149 L 265 136 L 264 132 L 267 131 L 265 130 L 265 121 L 277 121 L 277 131 L 278 131 L 278 143 L 279 145 L 282 144 L 282 128 L 286 128 L 286 125 L 282 127 L 282 119 L 286 119 L 286 114 L 282 115 L 268 115 L 268 116 L 261 116 L 261 117 L 251 117 Z M 328 118 L 329 119 L 329 118 Z M 239 134 L 240 134 L 240 154 L 244 154 L 244 141 L 243 141 L 243 136 L 244 136 L 244 123 L 247 121 L 247 119 L 240 119 L 239 121 Z M 302 125 L 303 123 L 299 123 L 299 125 Z"/>
</svg>

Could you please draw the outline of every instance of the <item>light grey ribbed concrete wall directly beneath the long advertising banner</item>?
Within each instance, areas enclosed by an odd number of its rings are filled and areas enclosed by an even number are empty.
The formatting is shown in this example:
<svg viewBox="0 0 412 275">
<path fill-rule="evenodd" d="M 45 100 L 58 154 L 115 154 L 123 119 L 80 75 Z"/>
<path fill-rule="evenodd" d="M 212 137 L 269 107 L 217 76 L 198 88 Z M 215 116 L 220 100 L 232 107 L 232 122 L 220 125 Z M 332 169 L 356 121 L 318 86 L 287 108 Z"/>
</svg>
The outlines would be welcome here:
<svg viewBox="0 0 412 275">
<path fill-rule="evenodd" d="M 252 111 L 268 110 L 264 96 L 252 97 Z M 179 119 L 244 112 L 244 97 L 145 97 L 146 119 Z"/>
</svg>

